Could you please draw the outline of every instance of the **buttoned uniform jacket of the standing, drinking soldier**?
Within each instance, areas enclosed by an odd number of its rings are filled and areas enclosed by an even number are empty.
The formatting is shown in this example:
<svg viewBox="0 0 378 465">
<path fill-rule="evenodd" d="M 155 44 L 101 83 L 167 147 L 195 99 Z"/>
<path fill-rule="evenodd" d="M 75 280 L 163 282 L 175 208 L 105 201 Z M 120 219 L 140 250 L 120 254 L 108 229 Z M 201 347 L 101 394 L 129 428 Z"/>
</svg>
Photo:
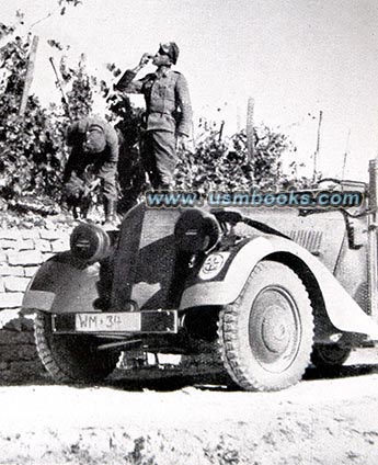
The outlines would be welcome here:
<svg viewBox="0 0 378 465">
<path fill-rule="evenodd" d="M 171 69 L 152 72 L 134 80 L 136 72 L 128 69 L 116 84 L 126 93 L 142 93 L 146 100 L 147 131 L 168 131 L 188 136 L 192 105 L 186 79 Z"/>
</svg>

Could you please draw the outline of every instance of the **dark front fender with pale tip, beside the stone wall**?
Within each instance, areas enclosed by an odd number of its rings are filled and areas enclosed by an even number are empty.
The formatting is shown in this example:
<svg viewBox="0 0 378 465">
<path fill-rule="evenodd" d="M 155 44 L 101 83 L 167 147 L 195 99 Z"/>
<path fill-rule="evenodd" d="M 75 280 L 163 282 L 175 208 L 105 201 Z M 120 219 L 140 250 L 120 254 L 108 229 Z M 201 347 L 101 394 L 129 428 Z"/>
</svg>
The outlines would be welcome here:
<svg viewBox="0 0 378 465">
<path fill-rule="evenodd" d="M 96 311 L 96 282 L 100 264 L 83 266 L 62 252 L 47 260 L 32 277 L 24 293 L 22 311 L 43 310 L 54 314 Z"/>
</svg>

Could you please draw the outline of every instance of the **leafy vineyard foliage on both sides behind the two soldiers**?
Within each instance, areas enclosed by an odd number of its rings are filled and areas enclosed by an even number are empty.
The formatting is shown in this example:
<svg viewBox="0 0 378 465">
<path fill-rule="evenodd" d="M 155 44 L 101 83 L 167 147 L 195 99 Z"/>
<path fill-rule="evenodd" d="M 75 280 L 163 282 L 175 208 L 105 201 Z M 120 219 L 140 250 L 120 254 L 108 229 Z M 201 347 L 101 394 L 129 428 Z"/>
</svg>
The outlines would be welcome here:
<svg viewBox="0 0 378 465">
<path fill-rule="evenodd" d="M 76 5 L 79 1 L 59 1 L 61 14 L 70 3 Z M 19 13 L 18 22 L 21 21 Z M 75 67 L 68 67 L 61 55 L 58 69 L 66 102 L 44 107 L 32 94 L 25 114 L 20 116 L 32 37 L 15 36 L 16 27 L 18 23 L 0 23 L 0 39 L 5 42 L 0 48 L 0 206 L 11 207 L 19 200 L 33 197 L 41 202 L 48 200 L 59 207 L 62 170 L 68 157 L 65 133 L 73 120 L 92 113 L 96 94 L 106 101 L 107 111 L 103 116 L 115 125 L 122 140 L 119 205 L 127 209 L 148 186 L 138 152 L 142 110 L 131 105 L 126 97 L 115 95 L 104 80 L 90 76 L 84 57 L 80 57 Z M 62 49 L 54 39 L 48 44 Z M 121 72 L 115 65 L 108 65 L 107 70 L 112 79 Z M 289 173 L 283 172 L 283 155 L 293 147 L 284 134 L 267 126 L 254 128 L 254 151 L 250 159 L 243 131 L 225 137 L 217 126 L 203 118 L 195 133 L 191 149 L 179 150 L 177 189 L 237 191 L 252 185 L 277 189 L 307 183 L 296 179 L 295 167 Z"/>
</svg>

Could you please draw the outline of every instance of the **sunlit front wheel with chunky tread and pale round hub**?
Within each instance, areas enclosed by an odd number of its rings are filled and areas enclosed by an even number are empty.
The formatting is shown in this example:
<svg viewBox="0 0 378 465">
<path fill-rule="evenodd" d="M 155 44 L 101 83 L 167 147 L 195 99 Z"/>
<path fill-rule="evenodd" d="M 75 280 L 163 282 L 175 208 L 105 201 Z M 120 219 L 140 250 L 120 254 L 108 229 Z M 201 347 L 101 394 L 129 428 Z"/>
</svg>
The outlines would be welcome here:
<svg viewBox="0 0 378 465">
<path fill-rule="evenodd" d="M 260 262 L 238 299 L 220 311 L 220 355 L 228 374 L 247 390 L 278 390 L 297 383 L 310 363 L 312 340 L 306 287 L 278 262 Z"/>
</svg>

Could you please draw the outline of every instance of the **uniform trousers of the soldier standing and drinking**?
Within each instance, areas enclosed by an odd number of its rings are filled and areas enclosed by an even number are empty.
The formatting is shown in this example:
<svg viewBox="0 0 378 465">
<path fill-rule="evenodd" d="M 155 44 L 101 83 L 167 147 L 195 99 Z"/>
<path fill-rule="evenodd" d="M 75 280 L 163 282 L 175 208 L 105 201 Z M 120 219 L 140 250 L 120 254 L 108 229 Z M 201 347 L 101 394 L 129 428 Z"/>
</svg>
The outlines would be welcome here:
<svg viewBox="0 0 378 465">
<path fill-rule="evenodd" d="M 169 189 L 177 165 L 176 137 L 168 131 L 147 131 L 141 137 L 141 160 L 153 189 Z"/>
</svg>

